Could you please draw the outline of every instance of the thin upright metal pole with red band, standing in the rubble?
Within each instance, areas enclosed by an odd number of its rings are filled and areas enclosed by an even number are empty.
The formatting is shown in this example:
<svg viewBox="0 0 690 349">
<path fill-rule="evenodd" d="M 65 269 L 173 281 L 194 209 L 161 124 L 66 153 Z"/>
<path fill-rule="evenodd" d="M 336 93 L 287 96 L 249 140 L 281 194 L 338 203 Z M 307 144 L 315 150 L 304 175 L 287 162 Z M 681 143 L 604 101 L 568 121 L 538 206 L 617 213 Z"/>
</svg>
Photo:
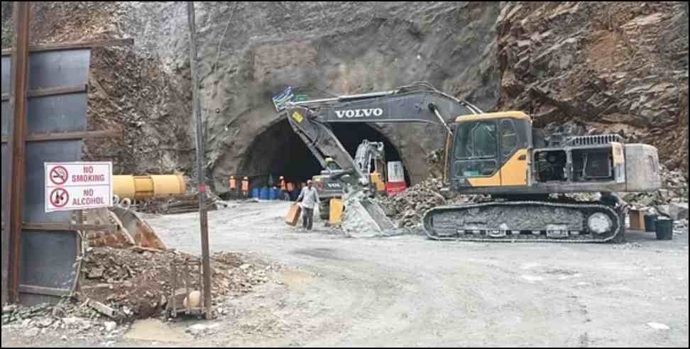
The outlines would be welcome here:
<svg viewBox="0 0 690 349">
<path fill-rule="evenodd" d="M 192 70 L 192 109 L 196 128 L 197 182 L 199 183 L 199 216 L 201 221 L 202 268 L 204 273 L 204 310 L 206 318 L 213 316 L 211 294 L 211 253 L 209 251 L 209 214 L 206 207 L 206 160 L 204 121 L 202 120 L 201 98 L 199 96 L 199 75 L 197 72 L 197 25 L 194 1 L 187 1 L 187 19 L 190 24 L 190 67 Z"/>
</svg>

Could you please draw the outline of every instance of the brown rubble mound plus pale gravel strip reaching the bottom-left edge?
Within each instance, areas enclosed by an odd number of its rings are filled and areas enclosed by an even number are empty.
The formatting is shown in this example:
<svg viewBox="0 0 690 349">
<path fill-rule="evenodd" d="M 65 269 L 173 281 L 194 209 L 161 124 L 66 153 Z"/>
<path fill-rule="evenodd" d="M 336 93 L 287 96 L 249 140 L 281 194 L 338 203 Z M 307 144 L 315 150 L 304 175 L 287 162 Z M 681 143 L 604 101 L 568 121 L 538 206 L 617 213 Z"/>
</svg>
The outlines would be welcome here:
<svg viewBox="0 0 690 349">
<path fill-rule="evenodd" d="M 2 326 L 26 330 L 26 336 L 38 336 L 45 331 L 62 331 L 70 338 L 121 334 L 120 331 L 126 331 L 126 326 L 121 325 L 166 315 L 172 292 L 173 259 L 194 257 L 176 251 L 94 248 L 82 260 L 80 291 L 75 297 L 62 299 L 56 305 L 4 306 Z M 250 264 L 246 256 L 235 253 L 214 254 L 214 301 L 251 292 L 256 285 L 267 283 L 269 273 L 279 268 L 258 262 Z M 198 282 L 190 284 L 198 286 Z M 221 314 L 223 310 L 216 311 Z"/>
</svg>

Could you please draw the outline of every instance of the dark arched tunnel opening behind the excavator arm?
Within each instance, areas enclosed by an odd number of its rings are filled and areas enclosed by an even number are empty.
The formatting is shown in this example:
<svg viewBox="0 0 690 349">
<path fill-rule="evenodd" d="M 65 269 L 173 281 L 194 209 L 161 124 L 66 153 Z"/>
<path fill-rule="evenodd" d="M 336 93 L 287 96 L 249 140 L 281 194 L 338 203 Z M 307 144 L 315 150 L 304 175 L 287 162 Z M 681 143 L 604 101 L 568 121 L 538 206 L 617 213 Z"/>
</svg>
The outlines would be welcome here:
<svg viewBox="0 0 690 349">
<path fill-rule="evenodd" d="M 366 123 L 336 124 L 332 126 L 336 137 L 354 157 L 363 140 L 383 142 L 386 161 L 401 161 L 400 153 L 388 138 Z M 238 175 L 251 179 L 251 187 L 267 187 L 270 179 L 278 182 L 285 176 L 288 182 L 307 182 L 321 173 L 322 167 L 304 141 L 290 128 L 287 120 L 280 121 L 256 137 L 240 164 Z M 410 184 L 405 170 L 405 180 Z"/>
</svg>

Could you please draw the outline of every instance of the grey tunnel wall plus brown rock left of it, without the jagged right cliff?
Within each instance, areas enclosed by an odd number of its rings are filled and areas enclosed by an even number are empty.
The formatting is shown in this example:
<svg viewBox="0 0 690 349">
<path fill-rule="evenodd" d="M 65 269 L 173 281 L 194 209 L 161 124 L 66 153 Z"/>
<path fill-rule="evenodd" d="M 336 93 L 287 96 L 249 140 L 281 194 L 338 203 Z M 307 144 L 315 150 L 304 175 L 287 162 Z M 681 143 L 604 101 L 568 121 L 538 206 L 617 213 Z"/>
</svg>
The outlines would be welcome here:
<svg viewBox="0 0 690 349">
<path fill-rule="evenodd" d="M 185 11 L 174 2 L 35 5 L 35 18 L 45 20 L 35 38 L 136 40 L 132 51 L 96 53 L 92 124 L 120 128 L 124 137 L 90 144 L 89 157 L 112 158 L 121 172 L 191 172 Z M 207 165 L 216 189 L 224 190 L 253 140 L 279 121 L 270 96 L 288 85 L 319 98 L 427 81 L 493 109 L 499 11 L 473 2 L 197 3 Z M 372 127 L 397 148 L 413 182 L 427 177 L 427 153 L 445 142 L 444 130 L 433 127 Z"/>
</svg>

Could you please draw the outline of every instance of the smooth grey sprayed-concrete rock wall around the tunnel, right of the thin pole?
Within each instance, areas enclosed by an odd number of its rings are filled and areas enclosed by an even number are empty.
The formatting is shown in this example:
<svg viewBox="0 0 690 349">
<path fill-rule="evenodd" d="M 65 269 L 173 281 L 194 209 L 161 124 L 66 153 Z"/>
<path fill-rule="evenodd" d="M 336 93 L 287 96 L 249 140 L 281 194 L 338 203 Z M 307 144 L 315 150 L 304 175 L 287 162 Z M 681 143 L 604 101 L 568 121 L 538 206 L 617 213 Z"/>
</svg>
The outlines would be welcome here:
<svg viewBox="0 0 690 349">
<path fill-rule="evenodd" d="M 199 55 L 216 187 L 239 170 L 256 135 L 280 120 L 270 96 L 288 85 L 322 97 L 428 81 L 493 109 L 498 11 L 498 4 L 464 2 L 202 6 Z M 425 155 L 444 145 L 444 130 L 374 127 L 398 148 L 413 182 L 427 177 Z"/>
</svg>

